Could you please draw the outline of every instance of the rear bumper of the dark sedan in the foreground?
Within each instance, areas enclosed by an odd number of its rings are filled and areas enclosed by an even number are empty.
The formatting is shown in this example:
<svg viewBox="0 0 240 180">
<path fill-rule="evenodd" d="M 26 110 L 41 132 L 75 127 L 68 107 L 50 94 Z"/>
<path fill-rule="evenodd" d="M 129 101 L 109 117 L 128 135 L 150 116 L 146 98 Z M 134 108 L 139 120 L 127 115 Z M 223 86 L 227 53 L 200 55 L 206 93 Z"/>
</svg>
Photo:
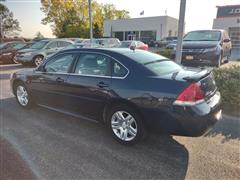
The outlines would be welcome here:
<svg viewBox="0 0 240 180">
<path fill-rule="evenodd" d="M 207 132 L 221 119 L 221 113 L 221 98 L 217 92 L 208 102 L 193 106 L 173 105 L 169 110 L 145 111 L 144 119 L 150 131 L 194 137 Z"/>
</svg>

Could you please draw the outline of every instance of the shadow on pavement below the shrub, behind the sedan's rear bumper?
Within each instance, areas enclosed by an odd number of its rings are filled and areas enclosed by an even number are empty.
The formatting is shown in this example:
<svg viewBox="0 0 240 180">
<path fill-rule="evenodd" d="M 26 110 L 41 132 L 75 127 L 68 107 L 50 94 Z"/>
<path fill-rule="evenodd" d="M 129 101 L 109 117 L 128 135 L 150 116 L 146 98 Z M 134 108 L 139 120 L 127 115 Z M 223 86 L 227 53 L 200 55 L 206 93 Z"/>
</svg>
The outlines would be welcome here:
<svg viewBox="0 0 240 180">
<path fill-rule="evenodd" d="M 228 140 L 240 140 L 239 117 L 223 116 L 223 119 L 220 120 L 205 136 L 215 137 L 217 135 L 224 136 L 222 142 Z"/>
</svg>

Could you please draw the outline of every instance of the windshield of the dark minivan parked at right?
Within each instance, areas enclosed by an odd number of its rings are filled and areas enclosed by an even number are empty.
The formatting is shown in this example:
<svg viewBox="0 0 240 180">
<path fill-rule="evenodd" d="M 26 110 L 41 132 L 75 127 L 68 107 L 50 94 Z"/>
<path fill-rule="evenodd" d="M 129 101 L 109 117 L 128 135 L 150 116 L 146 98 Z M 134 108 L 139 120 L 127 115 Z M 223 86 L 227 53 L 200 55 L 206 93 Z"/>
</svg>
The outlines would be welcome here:
<svg viewBox="0 0 240 180">
<path fill-rule="evenodd" d="M 220 31 L 193 31 L 186 34 L 184 41 L 219 41 Z"/>
</svg>

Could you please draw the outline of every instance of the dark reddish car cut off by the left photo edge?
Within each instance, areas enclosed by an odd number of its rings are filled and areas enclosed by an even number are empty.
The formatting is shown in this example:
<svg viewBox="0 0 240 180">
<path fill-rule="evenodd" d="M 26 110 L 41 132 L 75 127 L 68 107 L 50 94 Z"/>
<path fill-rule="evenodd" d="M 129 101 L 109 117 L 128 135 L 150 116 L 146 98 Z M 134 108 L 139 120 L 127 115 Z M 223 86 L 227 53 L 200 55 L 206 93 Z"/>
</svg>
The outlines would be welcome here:
<svg viewBox="0 0 240 180">
<path fill-rule="evenodd" d="M 22 41 L 6 42 L 0 45 L 0 63 L 17 63 L 15 55 L 19 49 L 27 46 L 28 43 Z"/>
</svg>

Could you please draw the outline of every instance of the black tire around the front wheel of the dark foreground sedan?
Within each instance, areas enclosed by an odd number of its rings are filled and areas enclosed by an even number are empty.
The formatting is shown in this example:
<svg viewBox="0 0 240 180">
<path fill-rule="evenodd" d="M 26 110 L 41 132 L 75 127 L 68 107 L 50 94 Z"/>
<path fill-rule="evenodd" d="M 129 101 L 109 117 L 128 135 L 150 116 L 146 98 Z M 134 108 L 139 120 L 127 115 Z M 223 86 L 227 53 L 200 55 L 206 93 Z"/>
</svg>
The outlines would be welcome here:
<svg viewBox="0 0 240 180">
<path fill-rule="evenodd" d="M 20 100 L 19 100 L 19 96 L 18 96 L 17 91 L 18 91 L 18 88 L 20 86 L 23 87 L 25 89 L 26 93 L 27 93 L 28 102 L 25 105 L 23 105 L 23 103 L 21 103 Z M 33 100 L 32 100 L 32 96 L 31 96 L 30 92 L 28 91 L 27 87 L 24 85 L 23 82 L 17 82 L 17 83 L 14 84 L 14 94 L 15 94 L 15 97 L 16 97 L 16 100 L 17 100 L 18 104 L 21 107 L 26 108 L 26 109 L 30 109 L 30 108 L 33 107 L 34 103 L 33 103 Z"/>
</svg>

